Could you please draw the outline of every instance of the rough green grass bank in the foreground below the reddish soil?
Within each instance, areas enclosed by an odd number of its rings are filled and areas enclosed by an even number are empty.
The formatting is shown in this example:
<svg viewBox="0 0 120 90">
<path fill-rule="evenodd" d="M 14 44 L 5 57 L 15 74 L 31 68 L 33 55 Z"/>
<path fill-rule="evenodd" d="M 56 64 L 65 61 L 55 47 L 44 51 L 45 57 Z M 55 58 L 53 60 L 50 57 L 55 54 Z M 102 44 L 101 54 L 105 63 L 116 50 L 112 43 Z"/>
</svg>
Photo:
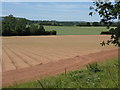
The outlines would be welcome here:
<svg viewBox="0 0 120 90">
<path fill-rule="evenodd" d="M 96 66 L 97 65 L 97 66 Z M 91 68 L 90 68 L 91 66 Z M 95 70 L 97 70 L 95 72 Z M 81 69 L 10 86 L 10 88 L 117 88 L 118 59 L 87 65 Z"/>
</svg>

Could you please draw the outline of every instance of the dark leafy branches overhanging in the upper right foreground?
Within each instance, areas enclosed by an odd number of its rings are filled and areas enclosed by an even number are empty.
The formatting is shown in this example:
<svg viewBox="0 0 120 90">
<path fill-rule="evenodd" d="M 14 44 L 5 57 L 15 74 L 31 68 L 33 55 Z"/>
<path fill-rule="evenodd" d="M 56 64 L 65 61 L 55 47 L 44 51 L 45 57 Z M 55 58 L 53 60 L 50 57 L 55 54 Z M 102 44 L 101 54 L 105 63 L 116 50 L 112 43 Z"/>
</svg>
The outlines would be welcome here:
<svg viewBox="0 0 120 90">
<path fill-rule="evenodd" d="M 93 11 L 89 15 L 92 16 L 97 12 L 101 17 L 101 23 L 106 24 L 108 29 L 112 25 L 113 20 L 118 19 L 117 28 L 112 28 L 115 33 L 111 35 L 110 40 L 106 44 L 109 45 L 111 43 L 120 47 L 120 1 L 111 3 L 109 0 L 105 2 L 99 0 L 98 2 L 93 2 L 93 4 L 93 6 L 90 6 L 90 10 Z"/>
</svg>

